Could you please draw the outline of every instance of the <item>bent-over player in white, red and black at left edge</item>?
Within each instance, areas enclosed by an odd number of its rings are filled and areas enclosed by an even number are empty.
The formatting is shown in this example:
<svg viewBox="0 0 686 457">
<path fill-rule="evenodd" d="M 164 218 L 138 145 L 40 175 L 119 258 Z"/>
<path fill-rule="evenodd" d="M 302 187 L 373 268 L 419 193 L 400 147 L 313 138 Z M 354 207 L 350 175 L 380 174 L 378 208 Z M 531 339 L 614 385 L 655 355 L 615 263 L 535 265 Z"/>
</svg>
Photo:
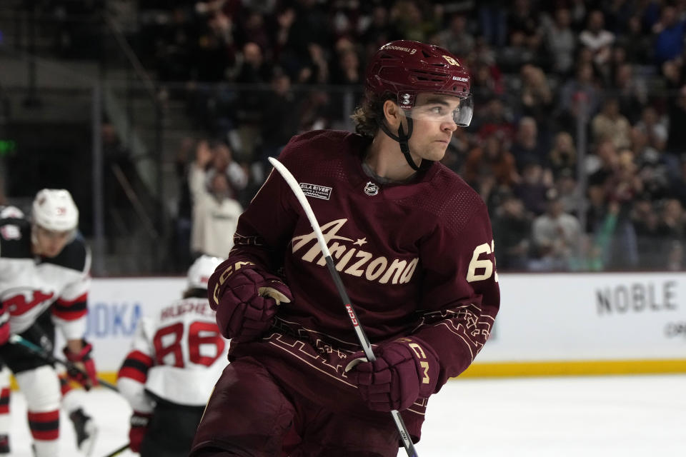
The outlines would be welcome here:
<svg viewBox="0 0 686 457">
<path fill-rule="evenodd" d="M 77 444 L 86 455 L 92 451 L 96 434 L 93 421 L 81 408 L 83 398 L 78 396 L 83 392 L 71 391 L 41 356 L 8 343 L 14 333 L 51 352 L 58 326 L 66 340 L 65 358 L 88 375 L 69 373 L 69 378 L 85 388 L 97 384 L 92 346 L 83 339 L 91 254 L 77 236 L 78 222 L 79 210 L 64 189 L 39 191 L 31 221 L 12 206 L 0 211 L 0 364 L 14 373 L 26 396 L 36 457 L 59 456 L 60 402 L 74 422 Z M 0 380 L 0 454 L 9 453 L 7 378 Z"/>
</svg>

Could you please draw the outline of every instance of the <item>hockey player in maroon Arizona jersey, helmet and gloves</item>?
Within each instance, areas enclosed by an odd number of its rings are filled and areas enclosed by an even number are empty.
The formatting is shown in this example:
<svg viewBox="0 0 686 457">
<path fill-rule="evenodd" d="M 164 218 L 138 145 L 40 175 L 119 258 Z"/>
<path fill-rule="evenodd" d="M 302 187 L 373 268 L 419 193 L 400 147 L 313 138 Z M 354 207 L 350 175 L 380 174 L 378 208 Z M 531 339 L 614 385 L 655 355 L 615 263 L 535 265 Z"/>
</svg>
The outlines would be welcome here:
<svg viewBox="0 0 686 457">
<path fill-rule="evenodd" d="M 471 120 L 469 79 L 445 49 L 392 41 L 367 66 L 357 134 L 285 147 L 377 360 L 272 171 L 209 281 L 232 363 L 191 456 L 397 456 L 392 410 L 419 440 L 429 397 L 472 363 L 500 301 L 486 206 L 439 163 Z"/>
</svg>

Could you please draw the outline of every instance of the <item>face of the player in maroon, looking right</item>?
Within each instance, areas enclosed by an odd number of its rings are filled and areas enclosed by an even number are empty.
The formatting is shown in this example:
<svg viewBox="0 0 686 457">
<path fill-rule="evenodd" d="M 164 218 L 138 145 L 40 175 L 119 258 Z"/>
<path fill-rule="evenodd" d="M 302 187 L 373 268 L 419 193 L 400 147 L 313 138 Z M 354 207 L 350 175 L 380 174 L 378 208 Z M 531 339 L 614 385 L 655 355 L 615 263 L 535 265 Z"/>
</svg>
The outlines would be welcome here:
<svg viewBox="0 0 686 457">
<path fill-rule="evenodd" d="M 419 94 L 414 104 L 414 123 L 409 138 L 409 150 L 422 159 L 439 161 L 443 159 L 452 132 L 457 130 L 461 101 L 457 97 L 439 94 Z"/>
</svg>

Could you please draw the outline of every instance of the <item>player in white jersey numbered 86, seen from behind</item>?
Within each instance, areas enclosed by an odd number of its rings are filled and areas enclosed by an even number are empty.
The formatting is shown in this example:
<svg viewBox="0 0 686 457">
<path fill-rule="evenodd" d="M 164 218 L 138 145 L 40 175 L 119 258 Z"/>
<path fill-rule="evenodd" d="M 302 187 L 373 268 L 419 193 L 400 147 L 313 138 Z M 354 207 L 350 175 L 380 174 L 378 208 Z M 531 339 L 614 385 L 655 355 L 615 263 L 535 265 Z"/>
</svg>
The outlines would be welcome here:
<svg viewBox="0 0 686 457">
<path fill-rule="evenodd" d="M 129 446 L 141 457 L 187 457 L 205 403 L 227 366 L 207 281 L 223 259 L 200 256 L 181 300 L 142 317 L 117 386 L 131 403 Z"/>
</svg>

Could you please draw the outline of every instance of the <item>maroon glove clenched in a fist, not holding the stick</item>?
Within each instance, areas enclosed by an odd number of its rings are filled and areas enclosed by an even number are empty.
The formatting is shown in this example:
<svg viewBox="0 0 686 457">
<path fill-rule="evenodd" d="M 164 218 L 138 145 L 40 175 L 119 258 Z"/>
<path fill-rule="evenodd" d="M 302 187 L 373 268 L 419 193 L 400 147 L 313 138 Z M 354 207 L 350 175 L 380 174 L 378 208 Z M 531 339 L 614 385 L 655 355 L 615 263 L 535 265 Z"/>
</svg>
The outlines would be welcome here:
<svg viewBox="0 0 686 457">
<path fill-rule="evenodd" d="M 219 284 L 222 276 L 226 279 Z M 262 336 L 272 326 L 277 306 L 293 298 L 277 276 L 249 265 L 233 272 L 217 270 L 208 285 L 209 301 L 217 309 L 217 325 L 224 337 L 235 341 L 254 341 Z"/>
</svg>

